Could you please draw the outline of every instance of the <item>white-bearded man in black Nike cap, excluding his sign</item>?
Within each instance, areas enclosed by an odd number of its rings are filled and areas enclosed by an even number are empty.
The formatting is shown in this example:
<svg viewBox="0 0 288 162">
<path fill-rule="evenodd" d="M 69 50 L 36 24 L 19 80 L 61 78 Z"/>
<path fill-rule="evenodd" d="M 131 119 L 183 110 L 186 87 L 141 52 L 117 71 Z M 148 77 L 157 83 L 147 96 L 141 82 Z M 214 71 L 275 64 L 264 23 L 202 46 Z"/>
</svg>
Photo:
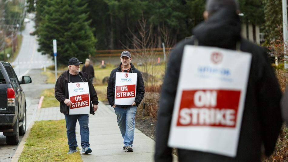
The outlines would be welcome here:
<svg viewBox="0 0 288 162">
<path fill-rule="evenodd" d="M 63 72 L 56 81 L 55 84 L 55 98 L 60 102 L 60 112 L 65 115 L 67 138 L 69 151 L 67 154 L 77 152 L 77 141 L 75 134 L 75 126 L 78 120 L 80 125 L 80 136 L 82 154 L 89 154 L 92 152 L 89 144 L 89 114 L 69 115 L 69 107 L 72 106 L 72 102 L 69 100 L 68 83 L 87 82 L 89 87 L 90 100 L 90 114 L 98 108 L 98 97 L 95 88 L 90 80 L 88 74 L 80 71 L 80 62 L 78 58 L 70 58 L 68 61 L 68 69 Z"/>
</svg>

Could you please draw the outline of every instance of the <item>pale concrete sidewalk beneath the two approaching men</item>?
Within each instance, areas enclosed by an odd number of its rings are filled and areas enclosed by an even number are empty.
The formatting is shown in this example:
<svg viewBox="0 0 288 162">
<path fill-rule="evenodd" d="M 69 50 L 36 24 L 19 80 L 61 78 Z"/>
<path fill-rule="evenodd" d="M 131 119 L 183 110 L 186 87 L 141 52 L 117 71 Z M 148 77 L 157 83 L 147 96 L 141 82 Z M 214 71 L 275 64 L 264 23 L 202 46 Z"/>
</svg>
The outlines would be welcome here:
<svg viewBox="0 0 288 162">
<path fill-rule="evenodd" d="M 36 119 L 38 121 L 60 120 L 65 118 L 64 114 L 60 113 L 59 107 L 41 108 L 39 111 L 39 117 Z M 104 105 L 102 102 L 99 102 L 98 110 L 95 115 L 89 114 L 89 130 L 89 143 L 92 153 L 81 155 L 84 162 L 154 161 L 153 155 L 155 141 L 136 128 L 133 143 L 134 151 L 127 153 L 123 150 L 123 138 L 117 124 L 114 109 L 110 106 Z M 76 125 L 76 138 L 78 147 L 82 149 L 78 122 Z M 174 156 L 174 161 L 178 161 L 177 159 L 178 158 Z"/>
</svg>

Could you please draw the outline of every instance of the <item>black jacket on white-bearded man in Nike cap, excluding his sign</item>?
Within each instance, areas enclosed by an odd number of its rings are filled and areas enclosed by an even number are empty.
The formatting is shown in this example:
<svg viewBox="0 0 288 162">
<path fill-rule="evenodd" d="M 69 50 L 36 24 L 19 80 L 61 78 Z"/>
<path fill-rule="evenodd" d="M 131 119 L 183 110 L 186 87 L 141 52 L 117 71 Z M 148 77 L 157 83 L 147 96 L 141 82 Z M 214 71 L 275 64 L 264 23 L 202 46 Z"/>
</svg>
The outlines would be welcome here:
<svg viewBox="0 0 288 162">
<path fill-rule="evenodd" d="M 65 99 L 69 99 L 69 92 L 68 92 L 68 75 L 69 70 L 63 72 L 59 78 L 56 81 L 55 84 L 55 98 L 60 102 L 60 112 L 63 114 L 68 114 L 69 107 L 64 103 Z M 95 91 L 95 88 L 90 80 L 90 77 L 88 74 L 80 71 L 79 75 L 84 80 L 84 82 L 88 82 L 89 86 L 89 92 L 90 92 L 90 100 L 92 101 L 92 104 L 98 105 L 98 97 L 97 93 Z M 95 114 L 93 110 L 93 105 L 90 104 L 90 114 Z"/>
</svg>

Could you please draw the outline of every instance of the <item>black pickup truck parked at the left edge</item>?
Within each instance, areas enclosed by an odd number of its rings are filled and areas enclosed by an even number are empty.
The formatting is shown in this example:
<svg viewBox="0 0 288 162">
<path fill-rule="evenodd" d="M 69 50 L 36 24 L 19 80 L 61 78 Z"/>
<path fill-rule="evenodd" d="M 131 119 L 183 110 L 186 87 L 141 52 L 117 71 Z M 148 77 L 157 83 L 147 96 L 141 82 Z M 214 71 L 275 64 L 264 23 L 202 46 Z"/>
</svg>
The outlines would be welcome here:
<svg viewBox="0 0 288 162">
<path fill-rule="evenodd" d="M 26 101 L 21 84 L 31 83 L 29 76 L 18 81 L 11 64 L 0 61 L 0 132 L 6 143 L 16 145 L 26 132 Z"/>
</svg>

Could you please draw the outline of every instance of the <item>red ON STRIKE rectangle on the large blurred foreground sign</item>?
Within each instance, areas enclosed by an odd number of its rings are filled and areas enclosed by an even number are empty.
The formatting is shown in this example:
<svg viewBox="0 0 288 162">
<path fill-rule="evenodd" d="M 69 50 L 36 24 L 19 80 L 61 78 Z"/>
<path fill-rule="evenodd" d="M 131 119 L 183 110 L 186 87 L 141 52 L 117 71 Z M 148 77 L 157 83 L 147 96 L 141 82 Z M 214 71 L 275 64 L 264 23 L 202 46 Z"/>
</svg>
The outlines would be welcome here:
<svg viewBox="0 0 288 162">
<path fill-rule="evenodd" d="M 177 126 L 236 127 L 240 93 L 208 89 L 182 91 Z"/>
</svg>

